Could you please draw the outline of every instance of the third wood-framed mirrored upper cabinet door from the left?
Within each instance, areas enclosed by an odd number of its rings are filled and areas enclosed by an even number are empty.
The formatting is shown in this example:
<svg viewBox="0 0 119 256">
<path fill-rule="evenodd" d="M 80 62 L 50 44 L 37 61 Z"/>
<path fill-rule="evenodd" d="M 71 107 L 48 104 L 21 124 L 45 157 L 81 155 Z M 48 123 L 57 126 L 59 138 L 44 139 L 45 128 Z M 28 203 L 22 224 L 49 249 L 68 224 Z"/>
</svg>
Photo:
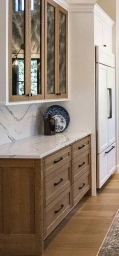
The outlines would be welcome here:
<svg viewBox="0 0 119 256">
<path fill-rule="evenodd" d="M 57 98 L 57 8 L 45 0 L 45 99 Z"/>
</svg>

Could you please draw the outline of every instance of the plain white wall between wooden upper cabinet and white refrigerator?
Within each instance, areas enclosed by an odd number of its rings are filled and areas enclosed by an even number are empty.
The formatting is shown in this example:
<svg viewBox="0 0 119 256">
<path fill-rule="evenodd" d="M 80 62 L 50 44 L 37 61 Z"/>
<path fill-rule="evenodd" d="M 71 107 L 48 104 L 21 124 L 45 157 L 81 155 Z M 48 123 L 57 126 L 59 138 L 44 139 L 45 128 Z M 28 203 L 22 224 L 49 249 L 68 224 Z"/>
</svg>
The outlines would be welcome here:
<svg viewBox="0 0 119 256">
<path fill-rule="evenodd" d="M 96 194 L 95 69 L 93 12 L 69 13 L 69 130 L 91 131 L 92 195 Z"/>
</svg>

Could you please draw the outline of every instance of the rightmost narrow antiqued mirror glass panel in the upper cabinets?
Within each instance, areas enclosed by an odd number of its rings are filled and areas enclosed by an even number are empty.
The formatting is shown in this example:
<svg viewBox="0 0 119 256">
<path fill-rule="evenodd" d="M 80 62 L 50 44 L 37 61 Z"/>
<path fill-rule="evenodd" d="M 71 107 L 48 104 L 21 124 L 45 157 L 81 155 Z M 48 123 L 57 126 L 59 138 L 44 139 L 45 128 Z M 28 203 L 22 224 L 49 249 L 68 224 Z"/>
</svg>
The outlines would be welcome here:
<svg viewBox="0 0 119 256">
<path fill-rule="evenodd" d="M 59 12 L 59 92 L 66 93 L 66 15 Z"/>
</svg>

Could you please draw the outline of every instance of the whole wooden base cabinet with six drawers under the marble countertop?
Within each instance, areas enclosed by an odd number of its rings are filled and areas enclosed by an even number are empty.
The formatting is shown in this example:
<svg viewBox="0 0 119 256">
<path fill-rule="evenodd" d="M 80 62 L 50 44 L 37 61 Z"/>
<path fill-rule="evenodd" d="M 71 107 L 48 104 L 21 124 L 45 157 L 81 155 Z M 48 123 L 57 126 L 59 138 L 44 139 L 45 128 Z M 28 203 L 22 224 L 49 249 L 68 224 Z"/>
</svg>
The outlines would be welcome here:
<svg viewBox="0 0 119 256">
<path fill-rule="evenodd" d="M 89 189 L 90 136 L 43 159 L 0 159 L 0 255 L 43 255 L 44 239 Z"/>
</svg>

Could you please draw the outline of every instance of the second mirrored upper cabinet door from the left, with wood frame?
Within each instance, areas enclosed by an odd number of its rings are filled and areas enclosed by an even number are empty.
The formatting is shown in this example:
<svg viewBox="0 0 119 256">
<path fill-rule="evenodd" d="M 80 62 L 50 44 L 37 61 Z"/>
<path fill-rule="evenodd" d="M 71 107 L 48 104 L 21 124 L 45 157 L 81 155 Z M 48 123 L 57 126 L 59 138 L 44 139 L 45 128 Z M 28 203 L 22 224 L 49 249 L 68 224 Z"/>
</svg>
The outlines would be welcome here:
<svg viewBox="0 0 119 256">
<path fill-rule="evenodd" d="M 31 0 L 31 96 L 30 100 L 44 98 L 44 1 Z"/>
</svg>

